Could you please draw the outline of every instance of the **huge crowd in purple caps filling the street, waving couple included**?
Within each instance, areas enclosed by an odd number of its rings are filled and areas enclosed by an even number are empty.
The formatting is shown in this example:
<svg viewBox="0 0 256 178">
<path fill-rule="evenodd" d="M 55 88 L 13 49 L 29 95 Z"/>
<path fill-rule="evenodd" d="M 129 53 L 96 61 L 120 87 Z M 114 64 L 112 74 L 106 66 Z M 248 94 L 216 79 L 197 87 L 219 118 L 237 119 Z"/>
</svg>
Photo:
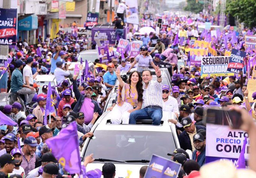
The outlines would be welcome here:
<svg viewBox="0 0 256 178">
<path fill-rule="evenodd" d="M 122 3 L 125 4 L 125 1 Z M 123 8 L 128 7 L 123 5 Z M 117 26 L 123 23 L 123 16 L 119 12 L 117 15 L 121 19 L 117 18 Z M 205 165 L 206 127 L 203 113 L 207 108 L 237 106 L 242 112 L 242 119 L 254 125 L 256 105 L 248 100 L 247 82 L 251 78 L 255 51 L 245 46 L 244 35 L 254 34 L 255 29 L 244 28 L 238 36 L 234 36 L 236 32 L 233 28 L 217 30 L 214 38 L 209 37 L 210 31 L 197 30 L 198 25 L 204 22 L 216 24 L 214 16 L 200 13 L 197 18 L 192 18 L 169 14 L 163 15 L 163 18 L 167 23 L 166 28 L 162 28 L 159 34 L 145 33 L 138 38 L 143 44 L 139 55 L 117 56 L 106 68 L 101 66 L 97 67 L 97 71 L 96 68 L 87 71 L 89 73 L 84 76 L 85 80 L 79 74 L 72 75 L 66 64 L 79 61 L 78 53 L 91 47 L 87 46 L 86 36 L 61 32 L 55 39 L 49 36 L 46 39 L 38 38 L 37 45 L 28 45 L 26 39 L 19 39 L 17 46 L 9 50 L 12 62 L 7 70 L 8 91 L 24 95 L 26 108 L 31 108 L 35 103 L 37 106 L 32 108 L 31 113 L 23 112 L 25 109 L 17 101 L 12 105 L 0 106 L 1 114 L 17 123 L 0 126 L 0 177 L 48 178 L 68 174 L 51 153 L 46 140 L 59 135 L 62 129 L 76 122 L 81 149 L 85 139 L 93 136 L 90 131 L 103 114 L 102 109 L 117 80 L 117 97 L 107 109 L 111 112 L 112 124 L 136 124 L 136 120 L 151 119 L 153 125 L 160 125 L 163 111 L 175 113 L 177 119 L 169 119 L 168 122 L 175 124 L 180 148 L 171 150 L 173 153 L 169 156 L 182 165 L 179 178 L 189 177 L 190 174 L 198 176 L 200 167 Z M 155 28 L 156 19 L 142 21 L 142 25 L 149 24 Z M 232 48 L 247 52 L 245 61 L 251 67 L 234 76 L 201 78 L 200 66 L 189 63 L 189 50 L 196 48 L 194 38 L 211 42 L 211 47 L 219 56 Z M 129 39 L 134 40 L 136 36 Z M 154 49 L 150 51 L 149 47 Z M 188 59 L 186 65 L 178 66 L 180 50 Z M 99 59 L 95 59 L 94 66 L 97 63 L 100 63 Z M 162 84 L 161 65 L 167 66 L 172 86 Z M 155 70 L 157 79 L 152 79 L 149 68 Z M 123 78 L 123 72 L 130 72 L 128 78 Z M 41 86 L 42 93 L 38 93 L 40 86 L 35 79 L 41 74 L 55 75 L 57 85 L 50 87 L 55 112 L 46 113 L 49 85 Z M 250 97 L 255 100 L 256 92 Z M 255 130 L 254 127 L 244 128 L 247 132 L 253 132 L 251 129 Z M 192 151 L 192 159 L 185 150 Z M 84 166 L 91 162 L 92 156 L 87 156 Z M 105 163 L 99 169 L 101 171 L 95 177 L 115 176 L 113 163 Z M 146 169 L 147 166 L 142 166 L 138 176 L 144 177 Z"/>
</svg>

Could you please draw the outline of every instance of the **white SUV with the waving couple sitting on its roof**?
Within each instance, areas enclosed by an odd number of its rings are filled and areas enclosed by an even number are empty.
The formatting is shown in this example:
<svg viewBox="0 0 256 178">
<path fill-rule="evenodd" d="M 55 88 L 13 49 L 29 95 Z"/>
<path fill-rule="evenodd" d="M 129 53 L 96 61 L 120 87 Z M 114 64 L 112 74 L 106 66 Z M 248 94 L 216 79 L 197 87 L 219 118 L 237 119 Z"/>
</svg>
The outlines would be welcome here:
<svg viewBox="0 0 256 178">
<path fill-rule="evenodd" d="M 87 138 L 81 151 L 81 157 L 93 153 L 95 161 L 87 165 L 87 170 L 102 169 L 106 162 L 116 166 L 115 177 L 139 177 L 139 170 L 148 165 L 152 154 L 168 159 L 167 153 L 180 148 L 175 125 L 168 123 L 174 119 L 172 112 L 163 112 L 159 126 L 152 120 L 139 120 L 137 124 L 111 124 L 111 112 L 105 112 L 94 124 L 92 138 Z M 150 124 L 150 125 L 149 125 Z M 103 177 L 103 176 L 102 176 Z"/>
</svg>

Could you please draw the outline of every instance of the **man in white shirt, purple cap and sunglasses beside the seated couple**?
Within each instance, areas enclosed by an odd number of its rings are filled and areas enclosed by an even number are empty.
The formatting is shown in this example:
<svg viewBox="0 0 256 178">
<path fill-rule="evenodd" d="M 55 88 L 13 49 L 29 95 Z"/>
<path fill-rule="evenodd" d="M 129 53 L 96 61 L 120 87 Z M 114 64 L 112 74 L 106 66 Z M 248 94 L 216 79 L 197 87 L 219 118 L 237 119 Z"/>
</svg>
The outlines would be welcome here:
<svg viewBox="0 0 256 178">
<path fill-rule="evenodd" d="M 179 107 L 177 100 L 170 96 L 170 88 L 168 85 L 163 85 L 163 111 L 174 112 L 179 115 Z"/>
</svg>

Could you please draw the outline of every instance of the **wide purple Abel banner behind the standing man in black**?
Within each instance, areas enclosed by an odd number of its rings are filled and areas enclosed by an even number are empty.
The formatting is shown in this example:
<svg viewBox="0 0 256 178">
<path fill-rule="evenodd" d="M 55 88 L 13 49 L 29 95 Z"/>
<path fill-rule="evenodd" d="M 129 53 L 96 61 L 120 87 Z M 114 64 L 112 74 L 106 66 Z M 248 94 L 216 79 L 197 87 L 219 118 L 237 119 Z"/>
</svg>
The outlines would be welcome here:
<svg viewBox="0 0 256 178">
<path fill-rule="evenodd" d="M 127 28 L 124 28 L 123 39 L 126 39 L 126 31 Z M 110 45 L 114 45 L 116 43 L 116 29 L 113 26 L 93 27 L 91 29 L 91 41 L 93 45 L 96 45 L 95 39 L 99 39 L 101 43 L 108 40 Z"/>
</svg>

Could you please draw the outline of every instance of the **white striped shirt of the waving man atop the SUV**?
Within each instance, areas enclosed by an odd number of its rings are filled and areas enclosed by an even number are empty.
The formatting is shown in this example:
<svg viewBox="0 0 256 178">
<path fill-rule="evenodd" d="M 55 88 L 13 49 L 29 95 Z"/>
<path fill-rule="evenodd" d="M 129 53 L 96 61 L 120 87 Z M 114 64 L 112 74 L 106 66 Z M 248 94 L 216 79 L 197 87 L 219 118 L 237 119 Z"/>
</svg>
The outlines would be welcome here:
<svg viewBox="0 0 256 178">
<path fill-rule="evenodd" d="M 162 82 L 157 80 L 149 81 L 148 88 L 143 84 L 143 105 L 147 106 L 160 106 L 163 108 L 162 99 Z"/>
</svg>

